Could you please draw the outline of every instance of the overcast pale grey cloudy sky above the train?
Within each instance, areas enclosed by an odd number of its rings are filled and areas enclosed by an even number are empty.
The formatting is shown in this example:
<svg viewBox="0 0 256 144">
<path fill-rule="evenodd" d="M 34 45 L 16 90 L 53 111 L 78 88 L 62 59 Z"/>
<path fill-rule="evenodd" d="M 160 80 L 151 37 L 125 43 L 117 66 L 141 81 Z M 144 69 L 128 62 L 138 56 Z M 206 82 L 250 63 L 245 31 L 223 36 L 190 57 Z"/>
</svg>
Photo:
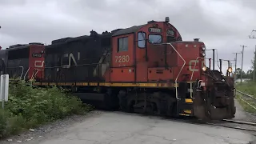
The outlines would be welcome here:
<svg viewBox="0 0 256 144">
<path fill-rule="evenodd" d="M 244 53 L 250 69 L 256 39 L 256 0 L 0 0 L 0 46 L 43 42 L 141 25 L 166 16 L 183 40 L 200 38 L 218 58 Z M 253 33 L 256 35 L 256 32 Z M 211 53 L 207 53 L 211 55 Z M 241 67 L 242 54 L 238 54 Z"/>
</svg>

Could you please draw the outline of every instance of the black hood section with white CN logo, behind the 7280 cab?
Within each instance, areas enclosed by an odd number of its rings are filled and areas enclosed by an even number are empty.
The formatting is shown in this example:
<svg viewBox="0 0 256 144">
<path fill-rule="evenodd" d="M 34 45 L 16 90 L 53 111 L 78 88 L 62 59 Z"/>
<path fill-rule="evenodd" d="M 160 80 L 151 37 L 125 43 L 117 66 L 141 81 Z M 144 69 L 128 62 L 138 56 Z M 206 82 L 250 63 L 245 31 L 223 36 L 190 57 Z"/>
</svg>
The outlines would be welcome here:
<svg viewBox="0 0 256 144">
<path fill-rule="evenodd" d="M 102 82 L 111 59 L 111 36 L 114 32 L 54 40 L 46 46 L 47 82 Z"/>
</svg>

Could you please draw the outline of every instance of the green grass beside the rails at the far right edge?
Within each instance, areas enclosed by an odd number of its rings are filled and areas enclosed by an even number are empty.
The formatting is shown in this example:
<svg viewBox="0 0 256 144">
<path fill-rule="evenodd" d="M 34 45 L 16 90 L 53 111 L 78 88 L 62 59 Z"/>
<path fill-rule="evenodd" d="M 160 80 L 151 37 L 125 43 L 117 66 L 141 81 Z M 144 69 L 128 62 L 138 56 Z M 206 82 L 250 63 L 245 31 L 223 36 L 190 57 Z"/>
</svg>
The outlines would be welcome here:
<svg viewBox="0 0 256 144">
<path fill-rule="evenodd" d="M 236 84 L 236 89 L 242 91 L 243 93 L 250 94 L 256 98 L 256 82 L 242 82 Z M 242 94 L 236 93 L 236 99 L 242 105 L 243 109 L 251 114 L 256 114 L 256 110 L 252 107 L 256 107 L 256 102 L 251 98 L 246 98 Z M 246 103 L 247 102 L 247 103 Z M 251 105 L 248 105 L 248 103 Z"/>
</svg>

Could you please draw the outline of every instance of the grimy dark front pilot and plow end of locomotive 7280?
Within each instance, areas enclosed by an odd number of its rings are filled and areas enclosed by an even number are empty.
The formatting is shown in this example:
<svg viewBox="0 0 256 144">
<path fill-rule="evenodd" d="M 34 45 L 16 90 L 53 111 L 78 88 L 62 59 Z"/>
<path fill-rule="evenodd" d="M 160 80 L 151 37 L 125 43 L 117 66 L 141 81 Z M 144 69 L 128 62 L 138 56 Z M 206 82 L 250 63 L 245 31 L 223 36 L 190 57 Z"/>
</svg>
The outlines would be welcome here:
<svg viewBox="0 0 256 144">
<path fill-rule="evenodd" d="M 201 119 L 234 118 L 234 83 L 217 70 L 208 70 L 205 82 L 194 90 L 194 115 Z"/>
</svg>

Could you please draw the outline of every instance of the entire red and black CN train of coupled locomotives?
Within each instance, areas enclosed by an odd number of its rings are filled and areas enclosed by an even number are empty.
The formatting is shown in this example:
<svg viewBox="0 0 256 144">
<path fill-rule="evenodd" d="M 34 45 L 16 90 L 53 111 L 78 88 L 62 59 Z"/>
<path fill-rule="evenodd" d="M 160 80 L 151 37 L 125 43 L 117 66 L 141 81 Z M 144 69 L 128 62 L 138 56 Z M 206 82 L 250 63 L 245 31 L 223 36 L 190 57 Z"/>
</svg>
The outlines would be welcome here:
<svg viewBox="0 0 256 144">
<path fill-rule="evenodd" d="M 234 78 L 206 67 L 204 42 L 183 41 L 168 17 L 102 34 L 91 30 L 48 46 L 14 46 L 0 56 L 10 77 L 12 67 L 22 66 L 20 78 L 34 79 L 34 86 L 66 87 L 83 102 L 108 110 L 234 118 Z"/>
</svg>

